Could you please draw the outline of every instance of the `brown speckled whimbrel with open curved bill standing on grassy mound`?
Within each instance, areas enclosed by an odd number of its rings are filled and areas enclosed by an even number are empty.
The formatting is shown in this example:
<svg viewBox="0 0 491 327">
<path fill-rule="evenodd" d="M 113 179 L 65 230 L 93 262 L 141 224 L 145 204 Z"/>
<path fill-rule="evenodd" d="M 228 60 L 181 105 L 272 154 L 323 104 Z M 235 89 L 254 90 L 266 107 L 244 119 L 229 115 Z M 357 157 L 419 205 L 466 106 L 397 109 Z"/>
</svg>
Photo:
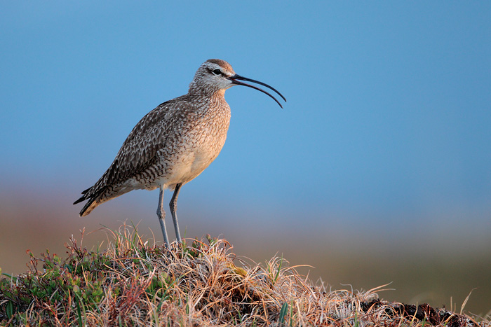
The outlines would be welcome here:
<svg viewBox="0 0 491 327">
<path fill-rule="evenodd" d="M 269 95 L 281 106 L 269 92 L 241 81 L 266 86 L 286 101 L 271 86 L 235 74 L 228 62 L 207 60 L 196 71 L 187 95 L 163 102 L 137 123 L 109 169 L 74 202 L 88 200 L 80 216 L 90 214 L 99 204 L 130 190 L 160 188 L 157 216 L 163 240 L 169 246 L 163 191 L 174 190 L 169 207 L 177 242 L 180 243 L 177 196 L 181 187 L 201 174 L 222 150 L 230 123 L 225 90 L 234 85 L 248 86 Z"/>
</svg>

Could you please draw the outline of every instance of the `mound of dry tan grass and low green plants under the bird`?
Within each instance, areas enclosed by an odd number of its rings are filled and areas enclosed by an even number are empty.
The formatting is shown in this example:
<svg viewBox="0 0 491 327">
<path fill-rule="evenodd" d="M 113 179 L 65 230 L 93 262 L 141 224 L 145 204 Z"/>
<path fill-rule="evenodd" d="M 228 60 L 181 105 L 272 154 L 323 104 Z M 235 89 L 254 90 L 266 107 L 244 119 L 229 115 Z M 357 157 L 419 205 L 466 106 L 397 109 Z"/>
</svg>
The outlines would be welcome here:
<svg viewBox="0 0 491 327">
<path fill-rule="evenodd" d="M 380 288 L 330 291 L 283 258 L 263 265 L 237 258 L 223 239 L 168 250 L 128 225 L 109 239 L 104 251 L 88 251 L 72 237 L 66 259 L 31 255 L 27 274 L 0 280 L 0 325 L 491 326 L 429 305 L 379 300 Z"/>
</svg>

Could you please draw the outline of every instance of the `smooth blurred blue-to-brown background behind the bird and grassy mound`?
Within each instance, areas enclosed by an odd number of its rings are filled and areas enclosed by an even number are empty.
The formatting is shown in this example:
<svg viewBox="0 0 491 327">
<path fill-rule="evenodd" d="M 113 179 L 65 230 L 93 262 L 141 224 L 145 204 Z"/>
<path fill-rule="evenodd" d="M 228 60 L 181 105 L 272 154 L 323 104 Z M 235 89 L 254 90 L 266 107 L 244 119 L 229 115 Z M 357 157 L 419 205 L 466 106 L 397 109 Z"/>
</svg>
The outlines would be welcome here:
<svg viewBox="0 0 491 327">
<path fill-rule="evenodd" d="M 65 256 L 83 228 L 89 249 L 123 221 L 161 242 L 158 190 L 84 218 L 72 202 L 220 58 L 288 102 L 227 91 L 227 143 L 182 188 L 181 232 L 311 265 L 332 290 L 391 283 L 380 297 L 457 312 L 472 291 L 464 309 L 486 314 L 490 17 L 489 1 L 3 1 L 2 272 L 25 272 L 27 249 Z"/>
</svg>

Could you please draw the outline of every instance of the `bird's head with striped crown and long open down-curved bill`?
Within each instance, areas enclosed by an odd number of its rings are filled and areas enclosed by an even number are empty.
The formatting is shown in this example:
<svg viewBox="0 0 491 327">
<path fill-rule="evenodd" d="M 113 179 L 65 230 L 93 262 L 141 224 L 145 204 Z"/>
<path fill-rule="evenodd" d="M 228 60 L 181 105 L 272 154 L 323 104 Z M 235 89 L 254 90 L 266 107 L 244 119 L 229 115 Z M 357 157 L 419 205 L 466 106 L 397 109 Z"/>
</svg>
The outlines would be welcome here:
<svg viewBox="0 0 491 327">
<path fill-rule="evenodd" d="M 198 71 L 196 71 L 196 74 L 194 75 L 193 81 L 189 84 L 189 92 L 214 93 L 220 90 L 227 90 L 234 85 L 244 85 L 269 95 L 269 97 L 272 97 L 274 101 L 281 106 L 280 102 L 269 94 L 269 92 L 241 81 L 249 81 L 266 86 L 267 88 L 274 90 L 274 92 L 278 93 L 278 95 L 280 95 L 280 97 L 286 101 L 285 97 L 283 97 L 283 95 L 281 95 L 281 93 L 274 88 L 271 88 L 271 86 L 267 85 L 266 83 L 255 81 L 236 74 L 228 62 L 220 59 L 210 59 L 201 64 Z M 283 108 L 283 106 L 281 106 L 281 108 Z"/>
</svg>

